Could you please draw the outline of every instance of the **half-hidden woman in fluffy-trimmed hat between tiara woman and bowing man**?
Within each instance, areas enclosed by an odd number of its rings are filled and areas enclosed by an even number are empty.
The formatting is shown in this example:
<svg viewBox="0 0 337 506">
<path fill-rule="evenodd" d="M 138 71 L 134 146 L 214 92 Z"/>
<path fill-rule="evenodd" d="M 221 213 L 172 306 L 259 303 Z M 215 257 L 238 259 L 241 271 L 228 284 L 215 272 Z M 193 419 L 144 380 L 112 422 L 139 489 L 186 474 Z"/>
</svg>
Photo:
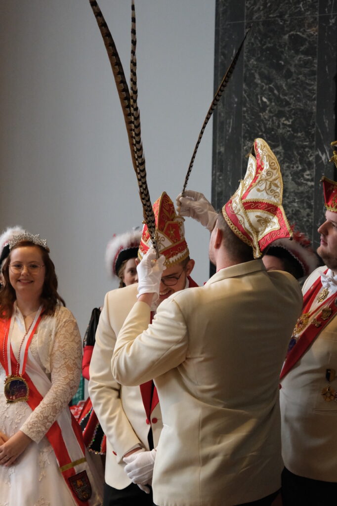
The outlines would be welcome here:
<svg viewBox="0 0 337 506">
<path fill-rule="evenodd" d="M 141 230 L 134 229 L 123 234 L 114 235 L 108 242 L 105 252 L 105 265 L 109 275 L 112 275 L 112 278 L 119 279 L 119 287 L 129 286 L 138 281 L 136 259 L 141 236 Z M 83 341 L 82 375 L 88 380 L 90 379 L 89 366 L 101 311 L 102 307 L 93 309 Z M 83 405 L 78 421 L 88 450 L 99 455 L 105 455 L 106 437 L 93 410 L 90 397 Z"/>
</svg>

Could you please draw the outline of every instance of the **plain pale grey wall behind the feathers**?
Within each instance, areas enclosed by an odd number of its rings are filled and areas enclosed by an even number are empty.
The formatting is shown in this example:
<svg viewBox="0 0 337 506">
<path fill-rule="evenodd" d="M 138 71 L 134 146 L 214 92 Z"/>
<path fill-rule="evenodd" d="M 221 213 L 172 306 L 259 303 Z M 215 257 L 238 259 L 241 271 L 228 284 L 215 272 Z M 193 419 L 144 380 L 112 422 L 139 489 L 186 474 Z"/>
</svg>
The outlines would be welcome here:
<svg viewBox="0 0 337 506">
<path fill-rule="evenodd" d="M 129 78 L 128 0 L 101 0 Z M 0 230 L 47 238 L 59 291 L 83 334 L 107 290 L 113 233 L 140 224 L 127 134 L 87 0 L 0 0 Z M 139 106 L 152 202 L 182 188 L 213 96 L 215 0 L 136 0 Z M 212 122 L 190 189 L 210 197 Z M 208 278 L 208 233 L 188 220 L 194 278 Z"/>
</svg>

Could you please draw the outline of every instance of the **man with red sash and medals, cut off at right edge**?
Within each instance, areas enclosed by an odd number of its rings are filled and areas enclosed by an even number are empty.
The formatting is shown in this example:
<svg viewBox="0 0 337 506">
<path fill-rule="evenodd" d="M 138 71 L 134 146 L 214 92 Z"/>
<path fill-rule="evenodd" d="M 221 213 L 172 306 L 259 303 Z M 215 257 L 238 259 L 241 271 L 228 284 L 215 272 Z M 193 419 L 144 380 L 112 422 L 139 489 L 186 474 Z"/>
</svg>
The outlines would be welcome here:
<svg viewBox="0 0 337 506">
<path fill-rule="evenodd" d="M 337 498 L 337 182 L 322 178 L 324 262 L 303 286 L 303 312 L 281 372 L 284 506 L 328 506 Z"/>
</svg>

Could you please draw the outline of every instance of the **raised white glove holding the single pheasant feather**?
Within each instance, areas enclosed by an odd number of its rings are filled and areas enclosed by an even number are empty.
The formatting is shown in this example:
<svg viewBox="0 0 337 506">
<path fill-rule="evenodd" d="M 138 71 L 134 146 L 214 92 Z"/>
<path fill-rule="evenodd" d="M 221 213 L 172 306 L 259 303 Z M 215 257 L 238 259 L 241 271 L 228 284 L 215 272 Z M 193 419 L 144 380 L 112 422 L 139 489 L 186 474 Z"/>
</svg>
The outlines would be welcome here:
<svg viewBox="0 0 337 506">
<path fill-rule="evenodd" d="M 218 213 L 202 193 L 187 190 L 184 196 L 180 193 L 176 201 L 180 216 L 189 216 L 212 232 L 218 219 Z"/>
</svg>

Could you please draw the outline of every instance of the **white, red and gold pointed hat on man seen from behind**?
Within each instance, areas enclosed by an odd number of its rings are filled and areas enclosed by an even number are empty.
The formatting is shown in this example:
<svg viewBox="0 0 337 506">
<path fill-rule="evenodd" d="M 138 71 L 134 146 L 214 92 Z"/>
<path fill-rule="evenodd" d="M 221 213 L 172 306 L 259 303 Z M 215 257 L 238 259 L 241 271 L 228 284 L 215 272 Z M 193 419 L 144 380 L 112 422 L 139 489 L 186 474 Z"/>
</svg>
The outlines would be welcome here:
<svg viewBox="0 0 337 506">
<path fill-rule="evenodd" d="M 240 186 L 224 205 L 222 214 L 254 258 L 276 239 L 292 232 L 282 207 L 283 182 L 277 158 L 263 139 L 255 139 Z"/>
</svg>

